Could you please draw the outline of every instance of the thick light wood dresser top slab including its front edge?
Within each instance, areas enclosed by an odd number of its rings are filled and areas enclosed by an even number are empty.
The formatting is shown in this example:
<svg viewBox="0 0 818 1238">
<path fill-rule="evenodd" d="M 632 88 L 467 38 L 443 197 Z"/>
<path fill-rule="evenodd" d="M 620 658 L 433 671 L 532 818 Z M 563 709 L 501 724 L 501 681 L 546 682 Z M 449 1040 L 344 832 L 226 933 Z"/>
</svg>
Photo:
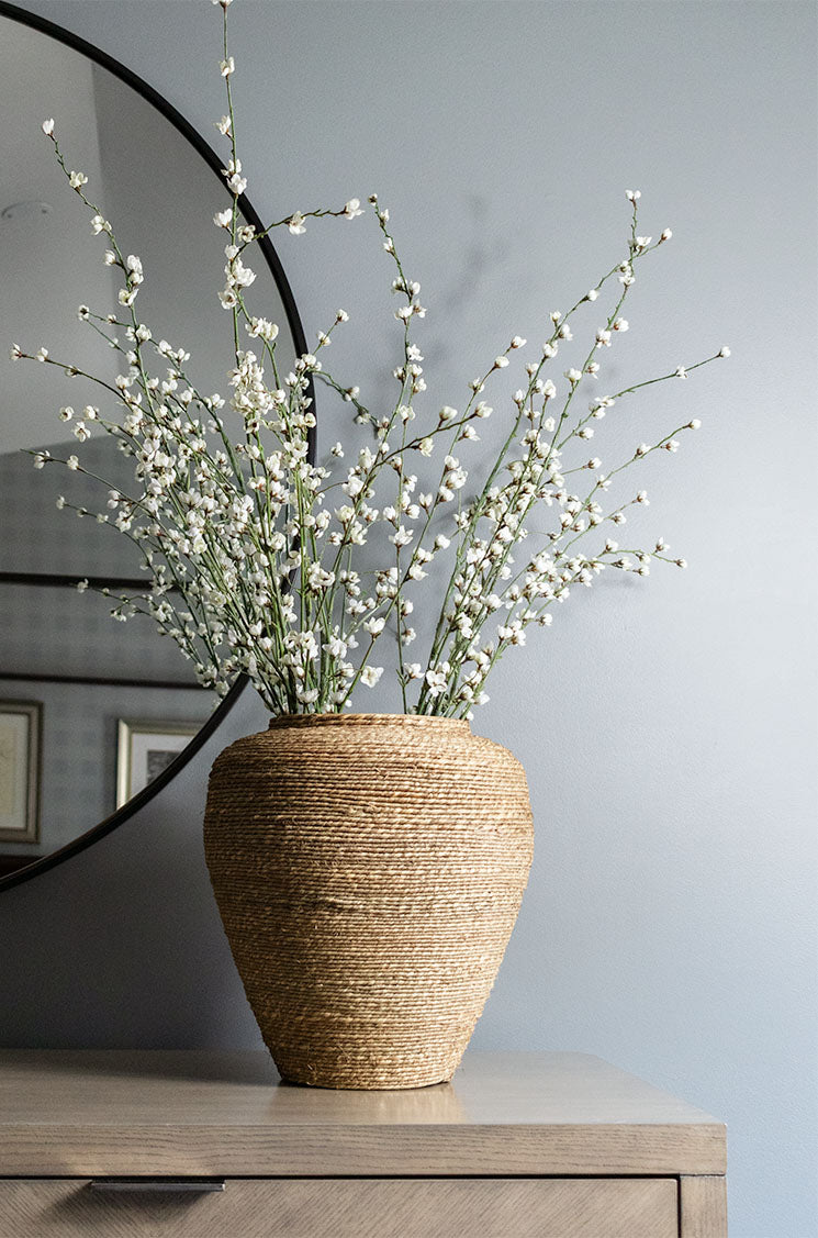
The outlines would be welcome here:
<svg viewBox="0 0 818 1238">
<path fill-rule="evenodd" d="M 281 1084 L 266 1054 L 0 1054 L 0 1174 L 723 1174 L 724 1127 L 583 1054 L 467 1054 L 450 1084 Z"/>
</svg>

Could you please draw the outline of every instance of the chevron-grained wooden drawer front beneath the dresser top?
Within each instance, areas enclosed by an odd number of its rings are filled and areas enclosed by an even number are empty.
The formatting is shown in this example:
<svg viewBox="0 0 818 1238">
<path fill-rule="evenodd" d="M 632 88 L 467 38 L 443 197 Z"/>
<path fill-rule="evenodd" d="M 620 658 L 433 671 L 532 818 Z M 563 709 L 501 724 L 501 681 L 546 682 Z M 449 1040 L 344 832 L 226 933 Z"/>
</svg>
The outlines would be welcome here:
<svg viewBox="0 0 818 1238">
<path fill-rule="evenodd" d="M 676 1179 L 228 1179 L 220 1193 L 0 1181 L 0 1238 L 677 1238 Z"/>
</svg>

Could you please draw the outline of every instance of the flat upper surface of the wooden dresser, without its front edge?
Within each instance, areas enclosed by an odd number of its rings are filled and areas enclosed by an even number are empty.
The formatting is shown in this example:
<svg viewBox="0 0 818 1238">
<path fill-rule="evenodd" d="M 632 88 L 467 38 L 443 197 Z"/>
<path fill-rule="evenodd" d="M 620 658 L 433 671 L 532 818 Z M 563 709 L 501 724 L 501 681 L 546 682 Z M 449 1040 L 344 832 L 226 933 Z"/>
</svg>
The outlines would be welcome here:
<svg viewBox="0 0 818 1238">
<path fill-rule="evenodd" d="M 354 1092 L 282 1083 L 266 1052 L 2 1050 L 9 1124 L 709 1127 L 715 1118 L 587 1054 L 469 1052 L 452 1083 Z"/>
</svg>

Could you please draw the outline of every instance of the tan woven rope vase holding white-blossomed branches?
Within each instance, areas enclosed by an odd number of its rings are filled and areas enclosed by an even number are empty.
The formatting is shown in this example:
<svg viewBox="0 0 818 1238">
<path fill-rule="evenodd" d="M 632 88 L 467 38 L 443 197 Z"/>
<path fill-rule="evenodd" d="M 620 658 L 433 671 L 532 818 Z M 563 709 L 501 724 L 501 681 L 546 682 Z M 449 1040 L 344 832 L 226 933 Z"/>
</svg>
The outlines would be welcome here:
<svg viewBox="0 0 818 1238">
<path fill-rule="evenodd" d="M 468 722 L 288 716 L 223 751 L 205 857 L 282 1078 L 449 1080 L 514 928 L 532 834 L 522 766 Z"/>
</svg>

